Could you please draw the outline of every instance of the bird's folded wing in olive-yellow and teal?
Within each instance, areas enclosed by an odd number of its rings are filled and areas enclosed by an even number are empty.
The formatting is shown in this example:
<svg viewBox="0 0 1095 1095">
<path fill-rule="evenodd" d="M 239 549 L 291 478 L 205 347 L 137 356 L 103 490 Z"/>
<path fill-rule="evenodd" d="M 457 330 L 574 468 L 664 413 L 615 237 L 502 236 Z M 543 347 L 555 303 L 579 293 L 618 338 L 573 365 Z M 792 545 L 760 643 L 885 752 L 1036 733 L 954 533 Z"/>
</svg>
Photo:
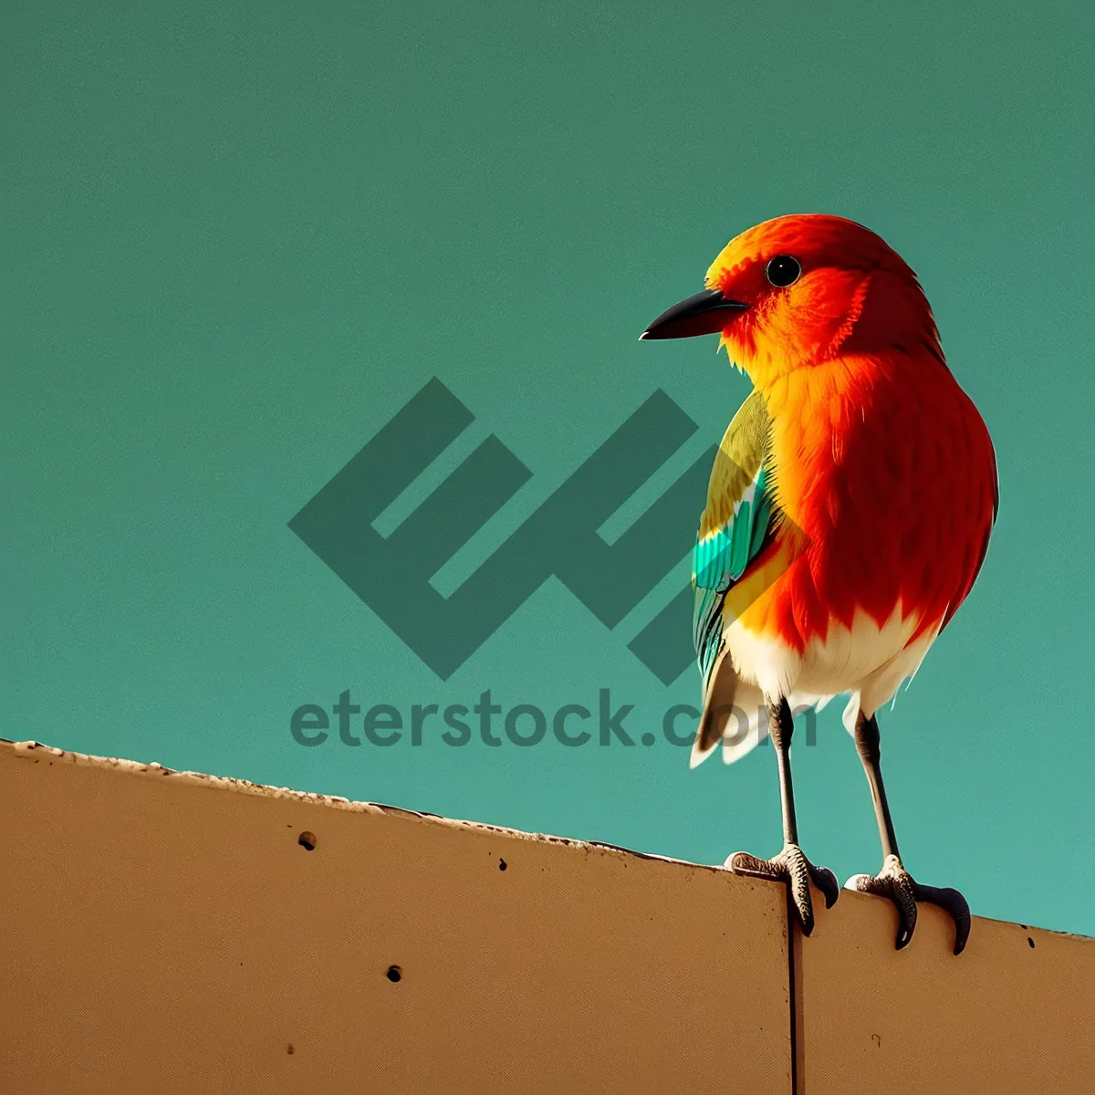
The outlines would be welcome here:
<svg viewBox="0 0 1095 1095">
<path fill-rule="evenodd" d="M 771 534 L 774 503 L 769 433 L 763 396 L 753 392 L 726 430 L 711 473 L 707 508 L 692 552 L 692 637 L 704 695 L 722 648 L 726 591 L 746 573 Z"/>
</svg>

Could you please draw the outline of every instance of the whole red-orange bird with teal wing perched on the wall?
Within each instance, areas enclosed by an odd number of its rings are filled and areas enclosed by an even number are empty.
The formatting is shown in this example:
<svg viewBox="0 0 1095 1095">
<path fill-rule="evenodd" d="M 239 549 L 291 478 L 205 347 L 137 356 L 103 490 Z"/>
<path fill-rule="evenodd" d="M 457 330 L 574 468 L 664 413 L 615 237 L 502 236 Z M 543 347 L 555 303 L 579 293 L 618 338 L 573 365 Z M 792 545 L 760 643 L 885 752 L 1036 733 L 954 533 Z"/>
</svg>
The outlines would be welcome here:
<svg viewBox="0 0 1095 1095">
<path fill-rule="evenodd" d="M 722 744 L 744 757 L 769 735 L 783 846 L 726 866 L 787 884 L 809 935 L 810 883 L 840 886 L 799 846 L 794 715 L 849 694 L 843 723 L 866 773 L 881 867 L 845 888 L 889 899 L 897 948 L 917 903 L 949 913 L 954 953 L 969 904 L 906 869 L 883 783 L 878 711 L 911 680 L 981 569 L 1000 506 L 992 440 L 947 365 L 913 270 L 843 217 L 777 217 L 733 239 L 705 288 L 658 315 L 643 342 L 719 336 L 752 382 L 717 450 L 693 551 L 693 637 L 703 706 L 691 763 Z"/>
</svg>

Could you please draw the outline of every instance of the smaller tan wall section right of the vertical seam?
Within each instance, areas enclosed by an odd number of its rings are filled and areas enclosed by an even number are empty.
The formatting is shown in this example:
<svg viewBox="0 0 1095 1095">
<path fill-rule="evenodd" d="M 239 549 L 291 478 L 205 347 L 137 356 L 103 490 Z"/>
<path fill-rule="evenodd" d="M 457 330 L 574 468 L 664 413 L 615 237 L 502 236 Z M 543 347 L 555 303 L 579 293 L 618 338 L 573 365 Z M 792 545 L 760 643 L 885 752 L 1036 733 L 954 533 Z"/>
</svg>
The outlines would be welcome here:
<svg viewBox="0 0 1095 1095">
<path fill-rule="evenodd" d="M 1095 1092 L 1095 941 L 975 918 L 956 958 L 934 906 L 896 933 L 888 902 L 842 894 L 795 941 L 809 1095 Z"/>
</svg>

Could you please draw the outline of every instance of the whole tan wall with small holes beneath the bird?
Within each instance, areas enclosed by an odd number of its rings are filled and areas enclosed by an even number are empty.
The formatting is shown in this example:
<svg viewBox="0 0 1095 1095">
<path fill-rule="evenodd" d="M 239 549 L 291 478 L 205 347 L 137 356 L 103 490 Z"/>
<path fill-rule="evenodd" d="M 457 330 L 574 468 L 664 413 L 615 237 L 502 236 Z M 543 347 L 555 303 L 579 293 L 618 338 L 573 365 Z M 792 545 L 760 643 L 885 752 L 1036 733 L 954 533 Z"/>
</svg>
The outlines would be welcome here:
<svg viewBox="0 0 1095 1095">
<path fill-rule="evenodd" d="M 0 1091 L 1095 1090 L 1095 943 L 932 913 L 0 744 Z"/>
</svg>

